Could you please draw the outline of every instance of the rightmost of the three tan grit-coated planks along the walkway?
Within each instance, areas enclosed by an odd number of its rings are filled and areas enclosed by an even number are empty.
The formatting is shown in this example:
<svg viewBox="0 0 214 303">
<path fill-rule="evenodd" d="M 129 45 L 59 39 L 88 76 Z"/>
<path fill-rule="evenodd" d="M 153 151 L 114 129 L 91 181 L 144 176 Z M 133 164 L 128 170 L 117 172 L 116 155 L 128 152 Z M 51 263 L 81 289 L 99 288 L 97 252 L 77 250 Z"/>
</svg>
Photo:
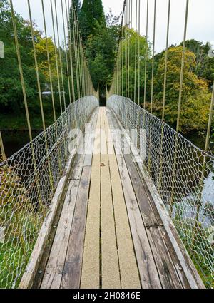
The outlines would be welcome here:
<svg viewBox="0 0 214 303">
<path fill-rule="evenodd" d="M 109 130 L 108 120 L 105 113 L 106 135 Z M 121 178 L 118 171 L 116 155 L 113 149 L 111 138 L 108 138 L 108 159 L 111 173 L 111 188 L 113 196 L 113 209 L 116 222 L 116 239 L 118 244 L 118 257 L 121 273 L 122 289 L 141 288 L 138 274 L 136 256 L 133 249 L 131 230 L 128 222 L 126 204 L 123 196 Z"/>
</svg>

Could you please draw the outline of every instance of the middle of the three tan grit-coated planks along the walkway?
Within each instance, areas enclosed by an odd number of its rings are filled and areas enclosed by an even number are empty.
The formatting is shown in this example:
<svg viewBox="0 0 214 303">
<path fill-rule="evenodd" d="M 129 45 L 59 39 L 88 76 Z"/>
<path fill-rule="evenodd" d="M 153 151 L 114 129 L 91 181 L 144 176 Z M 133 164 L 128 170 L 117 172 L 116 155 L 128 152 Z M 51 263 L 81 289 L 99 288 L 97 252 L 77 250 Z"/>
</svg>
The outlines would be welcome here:
<svg viewBox="0 0 214 303">
<path fill-rule="evenodd" d="M 101 129 L 105 129 L 101 111 Z M 104 142 L 106 143 L 106 142 Z M 103 144 L 103 143 L 102 143 Z M 101 145 L 102 145 L 101 144 Z M 101 271 L 102 288 L 121 288 L 108 154 L 101 148 Z"/>
</svg>

